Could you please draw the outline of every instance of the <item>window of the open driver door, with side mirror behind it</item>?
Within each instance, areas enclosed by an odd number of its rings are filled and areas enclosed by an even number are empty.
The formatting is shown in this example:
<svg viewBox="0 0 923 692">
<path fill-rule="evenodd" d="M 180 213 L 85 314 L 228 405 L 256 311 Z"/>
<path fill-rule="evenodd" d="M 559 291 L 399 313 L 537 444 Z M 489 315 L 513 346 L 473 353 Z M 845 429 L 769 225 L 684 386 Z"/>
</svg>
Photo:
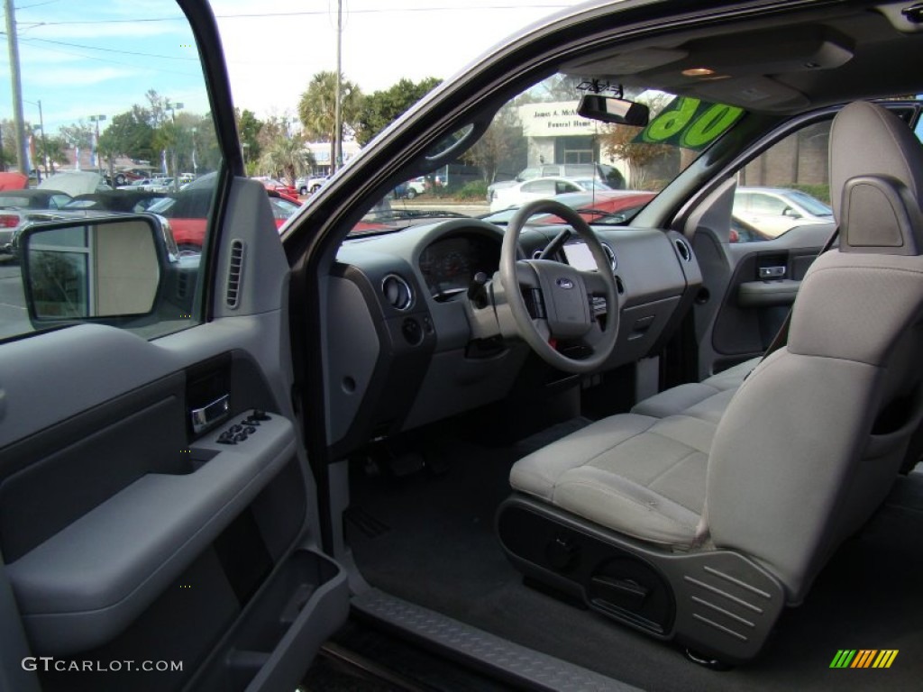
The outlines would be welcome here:
<svg viewBox="0 0 923 692">
<path fill-rule="evenodd" d="M 5 50 L 3 189 L 13 185 L 7 178 L 37 188 L 23 192 L 49 200 L 39 221 L 68 223 L 83 245 L 35 234 L 35 214 L 4 205 L 0 340 L 79 322 L 147 339 L 198 324 L 199 258 L 222 157 L 186 17 L 174 0 L 24 3 L 10 11 L 21 88 L 11 86 Z M 78 196 L 104 203 L 68 205 Z M 144 210 L 153 225 L 96 221 Z M 127 242 L 128 233 L 138 242 Z M 109 280 L 140 263 L 145 280 Z M 49 304 L 79 309 L 42 308 Z"/>
</svg>

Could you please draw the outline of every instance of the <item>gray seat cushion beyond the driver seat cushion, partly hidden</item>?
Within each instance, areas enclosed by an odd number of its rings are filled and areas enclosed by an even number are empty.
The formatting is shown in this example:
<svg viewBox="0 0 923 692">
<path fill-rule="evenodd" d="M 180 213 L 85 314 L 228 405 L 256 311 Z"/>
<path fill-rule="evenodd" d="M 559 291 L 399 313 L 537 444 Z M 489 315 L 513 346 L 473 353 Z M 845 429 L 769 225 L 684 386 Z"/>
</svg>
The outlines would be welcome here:
<svg viewBox="0 0 923 692">
<path fill-rule="evenodd" d="M 761 357 L 753 358 L 701 382 L 690 382 L 665 389 L 653 397 L 639 401 L 631 412 L 654 418 L 679 414 L 704 416 L 706 420 L 717 423 L 733 393 L 760 361 Z"/>
</svg>

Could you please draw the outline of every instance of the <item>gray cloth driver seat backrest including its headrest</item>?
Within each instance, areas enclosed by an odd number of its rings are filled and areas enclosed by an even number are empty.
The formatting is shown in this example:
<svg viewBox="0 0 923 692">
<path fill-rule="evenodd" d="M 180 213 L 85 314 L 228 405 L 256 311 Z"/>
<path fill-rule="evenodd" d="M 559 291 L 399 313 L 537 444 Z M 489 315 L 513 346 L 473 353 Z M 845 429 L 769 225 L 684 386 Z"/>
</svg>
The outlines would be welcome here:
<svg viewBox="0 0 923 692">
<path fill-rule="evenodd" d="M 802 281 L 785 347 L 731 400 L 708 469 L 713 543 L 756 557 L 792 603 L 881 504 L 923 420 L 923 149 L 859 102 L 830 150 L 840 247 Z"/>
</svg>

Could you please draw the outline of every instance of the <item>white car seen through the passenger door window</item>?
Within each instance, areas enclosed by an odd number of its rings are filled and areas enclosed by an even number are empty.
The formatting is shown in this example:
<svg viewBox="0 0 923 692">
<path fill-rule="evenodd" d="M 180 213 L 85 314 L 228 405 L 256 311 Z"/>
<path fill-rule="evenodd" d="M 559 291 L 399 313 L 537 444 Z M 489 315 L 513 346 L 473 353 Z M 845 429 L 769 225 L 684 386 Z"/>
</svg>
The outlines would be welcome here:
<svg viewBox="0 0 923 692">
<path fill-rule="evenodd" d="M 833 222 L 833 209 L 800 190 L 737 187 L 734 215 L 775 238 L 796 226 Z"/>
</svg>

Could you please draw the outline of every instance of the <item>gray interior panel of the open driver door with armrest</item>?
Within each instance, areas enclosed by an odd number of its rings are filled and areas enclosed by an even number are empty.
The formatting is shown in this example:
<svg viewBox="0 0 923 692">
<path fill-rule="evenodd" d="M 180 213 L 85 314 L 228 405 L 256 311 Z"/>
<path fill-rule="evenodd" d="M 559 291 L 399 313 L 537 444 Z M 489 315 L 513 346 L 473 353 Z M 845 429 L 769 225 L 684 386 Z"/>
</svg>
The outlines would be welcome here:
<svg viewBox="0 0 923 692">
<path fill-rule="evenodd" d="M 345 620 L 345 573 L 318 547 L 287 396 L 282 248 L 252 211 L 266 203 L 258 185 L 235 183 L 230 199 L 219 275 L 234 243 L 255 251 L 235 285 L 243 314 L 151 341 L 78 325 L 2 346 L 16 688 L 294 687 Z M 194 429 L 192 412 L 225 396 L 227 414 Z"/>
</svg>

